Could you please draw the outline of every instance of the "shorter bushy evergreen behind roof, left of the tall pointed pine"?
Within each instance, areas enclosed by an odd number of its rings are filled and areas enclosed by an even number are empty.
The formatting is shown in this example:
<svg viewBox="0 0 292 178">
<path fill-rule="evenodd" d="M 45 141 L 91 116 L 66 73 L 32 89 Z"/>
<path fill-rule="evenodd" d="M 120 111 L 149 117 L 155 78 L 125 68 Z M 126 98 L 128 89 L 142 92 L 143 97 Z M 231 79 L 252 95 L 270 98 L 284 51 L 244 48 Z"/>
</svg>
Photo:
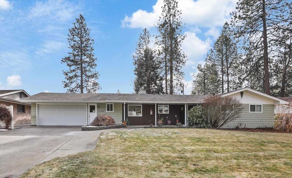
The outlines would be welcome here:
<svg viewBox="0 0 292 178">
<path fill-rule="evenodd" d="M 202 68 L 202 65 L 199 64 L 197 69 L 199 73 L 197 76 L 194 76 L 192 86 L 192 95 L 209 95 L 209 94 L 217 94 L 220 93 L 220 80 L 218 76 L 218 72 L 214 66 L 215 64 L 206 63 Z"/>
</svg>

